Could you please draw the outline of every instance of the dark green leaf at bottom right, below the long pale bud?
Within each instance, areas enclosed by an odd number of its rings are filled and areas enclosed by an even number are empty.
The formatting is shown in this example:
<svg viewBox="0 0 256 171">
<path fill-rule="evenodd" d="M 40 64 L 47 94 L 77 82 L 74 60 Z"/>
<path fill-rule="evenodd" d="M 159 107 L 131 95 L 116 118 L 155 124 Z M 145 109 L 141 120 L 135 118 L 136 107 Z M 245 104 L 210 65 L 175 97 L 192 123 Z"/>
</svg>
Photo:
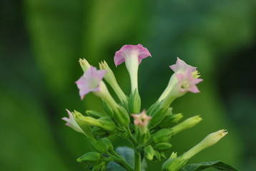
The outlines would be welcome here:
<svg viewBox="0 0 256 171">
<path fill-rule="evenodd" d="M 183 167 L 182 170 L 180 171 L 200 171 L 210 167 L 213 167 L 217 170 L 239 171 L 237 168 L 233 167 L 232 165 L 228 165 L 227 163 L 222 161 L 200 162 L 197 164 L 187 165 Z"/>
</svg>

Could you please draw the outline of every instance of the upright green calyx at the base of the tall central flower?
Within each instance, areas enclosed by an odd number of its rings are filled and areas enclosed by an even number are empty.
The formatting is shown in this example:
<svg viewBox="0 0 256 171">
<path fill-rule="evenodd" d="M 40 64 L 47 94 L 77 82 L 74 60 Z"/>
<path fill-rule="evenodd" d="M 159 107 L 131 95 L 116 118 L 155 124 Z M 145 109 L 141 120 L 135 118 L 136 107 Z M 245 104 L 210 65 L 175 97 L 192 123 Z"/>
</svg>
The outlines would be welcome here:
<svg viewBox="0 0 256 171">
<path fill-rule="evenodd" d="M 137 88 L 134 90 L 134 93 L 131 93 L 129 96 L 128 108 L 129 113 L 140 113 L 141 99 Z"/>
</svg>

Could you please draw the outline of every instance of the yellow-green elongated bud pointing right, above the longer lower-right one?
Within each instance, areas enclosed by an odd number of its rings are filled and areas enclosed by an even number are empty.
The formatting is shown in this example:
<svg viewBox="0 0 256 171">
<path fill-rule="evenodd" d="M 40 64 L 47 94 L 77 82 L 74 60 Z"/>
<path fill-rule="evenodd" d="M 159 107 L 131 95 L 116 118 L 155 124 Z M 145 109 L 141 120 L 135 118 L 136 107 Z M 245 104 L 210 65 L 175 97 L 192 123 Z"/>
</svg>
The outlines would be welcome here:
<svg viewBox="0 0 256 171">
<path fill-rule="evenodd" d="M 175 125 L 172 128 L 173 134 L 177 134 L 181 132 L 182 130 L 187 130 L 188 128 L 192 128 L 193 126 L 197 125 L 197 123 L 200 123 L 202 118 L 200 118 L 200 115 L 193 116 L 191 118 L 188 118 L 187 120 L 184 120 L 182 123 L 179 123 L 178 125 Z"/>
</svg>

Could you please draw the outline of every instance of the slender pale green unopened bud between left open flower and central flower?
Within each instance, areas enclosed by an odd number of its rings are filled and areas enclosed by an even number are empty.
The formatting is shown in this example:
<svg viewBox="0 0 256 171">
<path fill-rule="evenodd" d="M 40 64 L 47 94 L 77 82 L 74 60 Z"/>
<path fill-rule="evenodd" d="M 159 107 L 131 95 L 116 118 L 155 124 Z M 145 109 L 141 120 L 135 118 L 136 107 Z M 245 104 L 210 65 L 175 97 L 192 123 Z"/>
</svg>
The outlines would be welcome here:
<svg viewBox="0 0 256 171">
<path fill-rule="evenodd" d="M 128 103 L 127 102 L 127 96 L 124 94 L 124 92 L 122 91 L 122 89 L 120 88 L 120 86 L 117 83 L 117 79 L 114 76 L 113 71 L 109 68 L 109 66 L 107 65 L 106 61 L 103 61 L 101 63 L 99 63 L 99 68 L 101 68 L 102 70 L 107 71 L 107 73 L 104 76 L 104 79 L 107 81 L 107 83 L 109 83 L 109 85 L 113 88 L 114 92 L 117 94 L 117 97 L 119 98 L 119 100 L 123 103 Z"/>
</svg>

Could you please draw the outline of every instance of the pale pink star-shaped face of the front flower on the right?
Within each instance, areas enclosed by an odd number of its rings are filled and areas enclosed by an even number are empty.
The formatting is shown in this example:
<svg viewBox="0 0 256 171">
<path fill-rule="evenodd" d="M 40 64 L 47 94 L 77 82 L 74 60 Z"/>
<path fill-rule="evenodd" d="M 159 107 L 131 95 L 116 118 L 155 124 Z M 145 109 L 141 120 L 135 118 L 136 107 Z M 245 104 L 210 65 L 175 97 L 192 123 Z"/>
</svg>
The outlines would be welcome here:
<svg viewBox="0 0 256 171">
<path fill-rule="evenodd" d="M 182 92 L 191 91 L 192 93 L 200 93 L 196 85 L 200 83 L 202 79 L 195 78 L 191 69 L 187 68 L 185 73 L 176 73 L 176 77 Z"/>
</svg>

